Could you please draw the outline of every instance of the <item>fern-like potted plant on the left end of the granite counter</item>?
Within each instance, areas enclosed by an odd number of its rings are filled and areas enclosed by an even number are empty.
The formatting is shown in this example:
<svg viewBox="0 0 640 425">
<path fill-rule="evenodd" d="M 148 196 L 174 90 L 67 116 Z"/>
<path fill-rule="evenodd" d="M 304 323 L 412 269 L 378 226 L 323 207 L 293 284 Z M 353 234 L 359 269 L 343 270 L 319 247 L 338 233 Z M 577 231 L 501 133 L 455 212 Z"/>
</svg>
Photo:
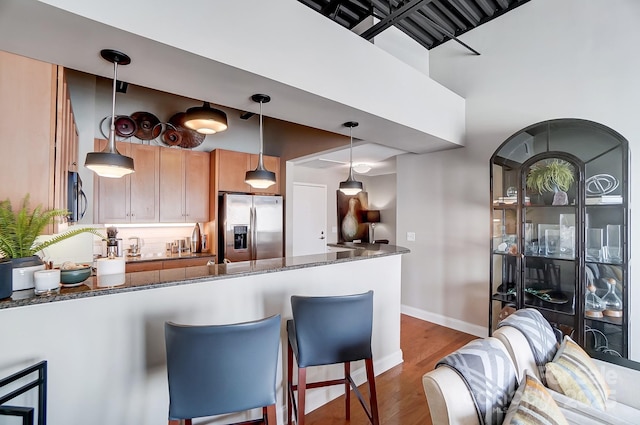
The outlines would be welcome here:
<svg viewBox="0 0 640 425">
<path fill-rule="evenodd" d="M 31 210 L 29 208 L 29 195 L 24 197 L 22 205 L 15 211 L 10 200 L 7 199 L 0 202 L 0 257 L 11 259 L 14 269 L 13 276 L 16 275 L 16 269 L 23 267 L 37 269 L 37 266 L 41 266 L 42 260 L 36 254 L 53 244 L 85 232 L 103 237 L 96 229 L 82 227 L 58 234 L 49 240 L 36 241 L 37 237 L 53 222 L 54 218 L 66 215 L 68 215 L 66 210 L 44 209 L 41 205 Z M 44 268 L 44 266 L 41 268 Z M 35 269 L 31 270 L 31 275 L 33 275 Z M 28 279 L 29 277 L 27 276 Z M 33 286 L 32 280 L 31 276 L 31 287 Z"/>
</svg>

